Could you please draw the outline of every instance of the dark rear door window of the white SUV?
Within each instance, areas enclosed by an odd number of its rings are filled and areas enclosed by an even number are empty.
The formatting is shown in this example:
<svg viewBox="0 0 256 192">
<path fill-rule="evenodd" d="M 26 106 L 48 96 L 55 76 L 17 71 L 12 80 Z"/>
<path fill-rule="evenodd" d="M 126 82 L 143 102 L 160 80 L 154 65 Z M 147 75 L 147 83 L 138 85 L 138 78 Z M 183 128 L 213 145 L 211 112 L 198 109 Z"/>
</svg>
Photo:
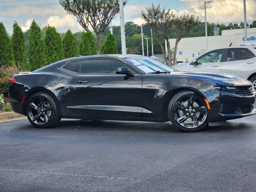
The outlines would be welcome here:
<svg viewBox="0 0 256 192">
<path fill-rule="evenodd" d="M 254 57 L 255 55 L 246 48 L 228 49 L 226 61 L 239 61 Z"/>
</svg>

